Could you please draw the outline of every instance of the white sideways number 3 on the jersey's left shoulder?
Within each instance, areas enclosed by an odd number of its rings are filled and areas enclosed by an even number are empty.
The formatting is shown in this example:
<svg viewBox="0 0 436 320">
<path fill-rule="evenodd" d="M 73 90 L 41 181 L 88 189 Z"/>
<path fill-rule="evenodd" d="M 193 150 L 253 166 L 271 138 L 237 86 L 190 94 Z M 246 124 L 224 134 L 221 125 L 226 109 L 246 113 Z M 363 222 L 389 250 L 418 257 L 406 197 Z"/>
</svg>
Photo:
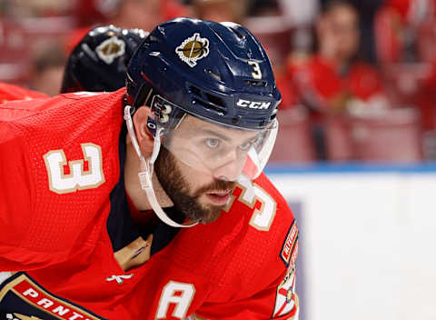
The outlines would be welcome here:
<svg viewBox="0 0 436 320">
<path fill-rule="evenodd" d="M 94 144 L 81 144 L 81 146 L 84 160 L 66 161 L 62 149 L 52 150 L 44 155 L 49 188 L 54 193 L 68 194 L 104 184 L 102 148 Z M 88 162 L 86 171 L 84 171 L 84 161 Z M 64 175 L 64 165 L 68 165 L 69 175 Z"/>
</svg>

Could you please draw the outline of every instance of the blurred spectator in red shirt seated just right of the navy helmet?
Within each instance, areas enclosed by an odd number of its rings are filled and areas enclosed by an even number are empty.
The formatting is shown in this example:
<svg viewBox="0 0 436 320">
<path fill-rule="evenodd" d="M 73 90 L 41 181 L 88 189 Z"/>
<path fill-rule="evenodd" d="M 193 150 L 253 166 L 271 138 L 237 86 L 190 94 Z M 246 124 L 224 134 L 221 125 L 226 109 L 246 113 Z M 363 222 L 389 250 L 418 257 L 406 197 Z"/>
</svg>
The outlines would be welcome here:
<svg viewBox="0 0 436 320">
<path fill-rule="evenodd" d="M 318 158 L 327 158 L 324 120 L 356 109 L 387 107 L 381 75 L 360 57 L 359 15 L 351 4 L 334 1 L 326 5 L 315 25 L 314 55 L 291 55 L 285 83 L 286 105 L 304 105 L 312 117 Z M 291 86 L 291 90 L 284 87 Z"/>
</svg>

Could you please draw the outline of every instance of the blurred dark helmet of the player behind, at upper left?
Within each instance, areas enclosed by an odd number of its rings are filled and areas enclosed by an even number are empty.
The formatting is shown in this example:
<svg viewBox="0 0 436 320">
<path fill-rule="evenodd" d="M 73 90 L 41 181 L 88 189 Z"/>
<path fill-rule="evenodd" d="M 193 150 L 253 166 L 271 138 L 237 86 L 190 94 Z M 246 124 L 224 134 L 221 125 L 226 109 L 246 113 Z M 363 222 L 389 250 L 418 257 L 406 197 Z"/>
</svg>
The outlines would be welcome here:
<svg viewBox="0 0 436 320">
<path fill-rule="evenodd" d="M 148 33 L 114 25 L 92 29 L 68 57 L 61 93 L 114 91 L 125 85 L 130 58 Z"/>
</svg>

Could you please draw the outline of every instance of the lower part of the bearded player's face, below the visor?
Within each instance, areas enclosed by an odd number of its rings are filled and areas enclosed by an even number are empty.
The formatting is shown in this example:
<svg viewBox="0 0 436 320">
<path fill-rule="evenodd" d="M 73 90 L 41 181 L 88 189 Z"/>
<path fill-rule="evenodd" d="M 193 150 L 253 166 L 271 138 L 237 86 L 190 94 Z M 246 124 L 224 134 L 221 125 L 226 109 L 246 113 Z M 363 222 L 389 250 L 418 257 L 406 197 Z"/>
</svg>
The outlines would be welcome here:
<svg viewBox="0 0 436 320">
<path fill-rule="evenodd" d="M 204 224 L 221 215 L 235 185 L 233 181 L 215 179 L 185 165 L 164 147 L 159 152 L 154 171 L 174 205 L 189 219 Z"/>
</svg>

